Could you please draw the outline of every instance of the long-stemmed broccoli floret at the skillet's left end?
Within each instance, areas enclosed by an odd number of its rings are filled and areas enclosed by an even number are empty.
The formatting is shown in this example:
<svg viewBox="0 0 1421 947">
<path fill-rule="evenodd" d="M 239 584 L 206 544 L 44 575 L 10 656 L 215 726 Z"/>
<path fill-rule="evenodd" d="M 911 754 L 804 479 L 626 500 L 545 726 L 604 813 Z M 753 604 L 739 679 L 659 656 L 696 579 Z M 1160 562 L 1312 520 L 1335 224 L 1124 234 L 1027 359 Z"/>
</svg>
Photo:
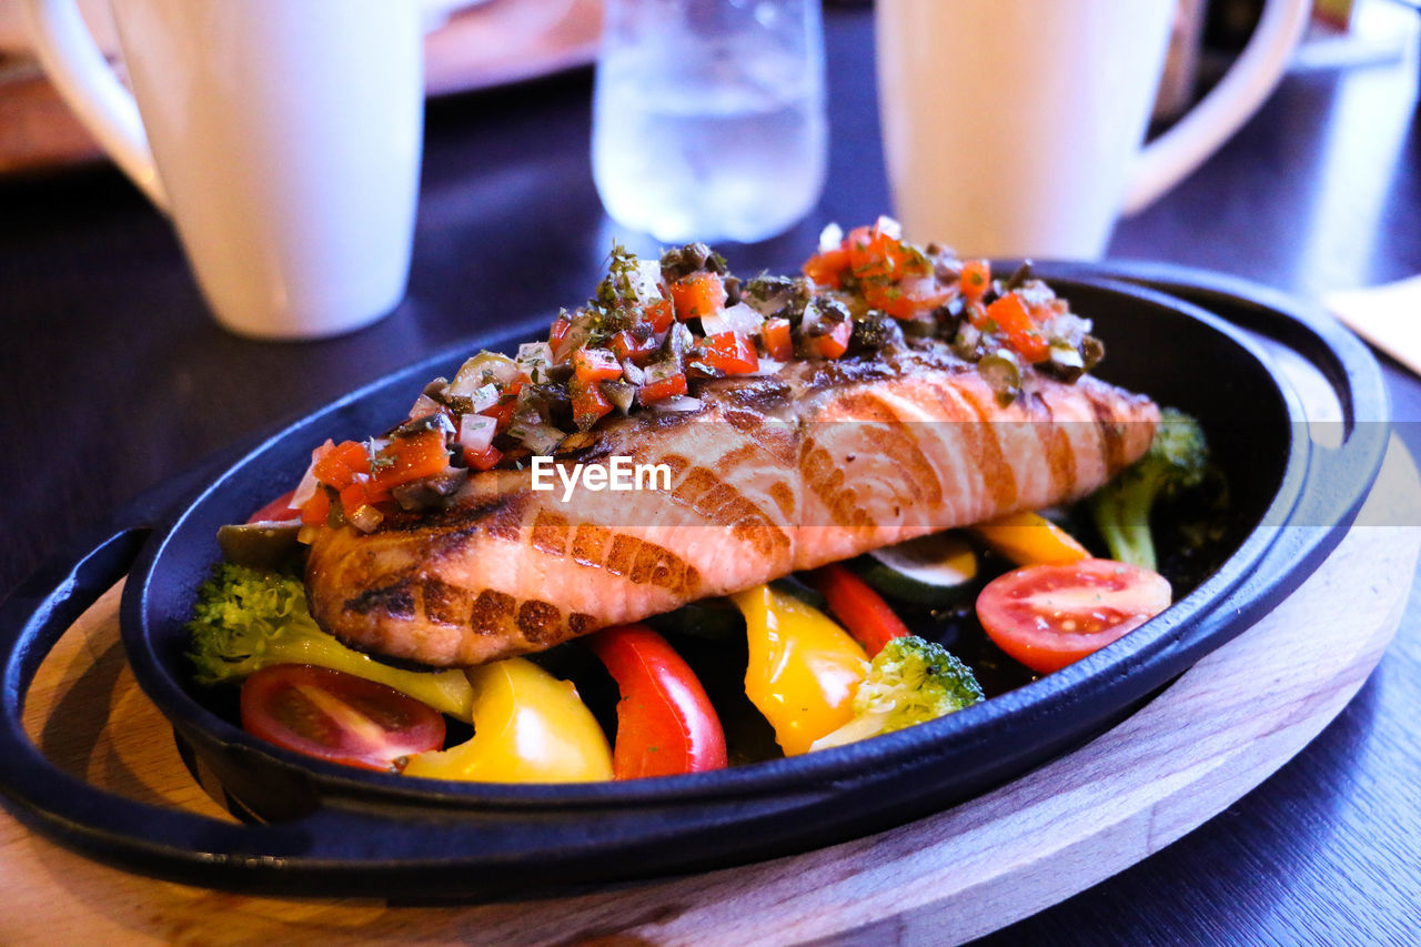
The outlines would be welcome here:
<svg viewBox="0 0 1421 947">
<path fill-rule="evenodd" d="M 462 671 L 411 671 L 351 650 L 315 624 L 301 579 L 222 563 L 198 590 L 192 650 L 199 684 L 243 678 L 270 664 L 315 664 L 364 677 L 468 721 L 473 691 Z"/>
</svg>

